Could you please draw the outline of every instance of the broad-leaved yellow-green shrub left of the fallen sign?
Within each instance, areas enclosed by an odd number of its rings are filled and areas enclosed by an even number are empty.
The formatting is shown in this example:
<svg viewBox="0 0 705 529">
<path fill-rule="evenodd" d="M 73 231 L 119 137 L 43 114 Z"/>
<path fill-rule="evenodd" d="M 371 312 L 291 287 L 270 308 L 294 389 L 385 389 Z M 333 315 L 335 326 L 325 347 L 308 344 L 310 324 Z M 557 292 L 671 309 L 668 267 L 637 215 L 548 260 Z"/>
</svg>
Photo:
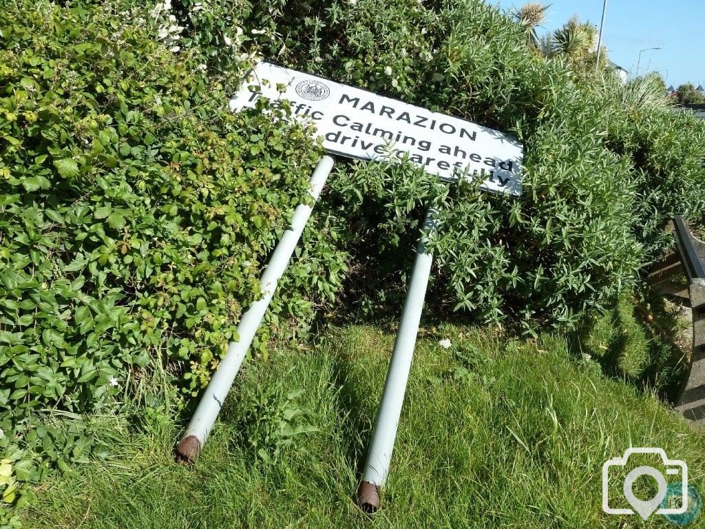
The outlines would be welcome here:
<svg viewBox="0 0 705 529">
<path fill-rule="evenodd" d="M 110 4 L 2 8 L 0 447 L 63 465 L 75 442 L 35 443 L 27 414 L 135 395 L 157 406 L 146 382 L 160 373 L 196 395 L 319 154 L 286 109 L 232 114 L 200 57 Z M 341 282 L 319 219 L 268 328 L 306 327 Z"/>
</svg>

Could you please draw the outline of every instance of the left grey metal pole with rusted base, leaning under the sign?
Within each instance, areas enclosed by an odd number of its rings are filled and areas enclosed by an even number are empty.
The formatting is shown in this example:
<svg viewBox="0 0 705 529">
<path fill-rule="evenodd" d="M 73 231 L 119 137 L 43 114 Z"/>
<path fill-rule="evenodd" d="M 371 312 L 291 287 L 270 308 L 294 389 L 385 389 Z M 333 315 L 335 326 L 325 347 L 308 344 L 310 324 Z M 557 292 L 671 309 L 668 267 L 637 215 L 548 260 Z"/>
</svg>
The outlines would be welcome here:
<svg viewBox="0 0 705 529">
<path fill-rule="evenodd" d="M 333 169 L 334 161 L 332 156 L 325 154 L 311 176 L 309 193 L 313 197 L 314 203 L 318 199 L 331 169 Z M 281 241 L 274 248 L 274 253 L 262 274 L 262 279 L 259 280 L 262 298 L 252 303 L 240 319 L 238 324 L 239 341 L 230 343 L 228 353 L 221 360 L 218 370 L 214 372 L 189 422 L 186 433 L 176 447 L 177 457 L 193 461 L 200 454 L 312 210 L 313 204 L 300 204 L 296 207 L 290 228 L 284 232 Z"/>
</svg>

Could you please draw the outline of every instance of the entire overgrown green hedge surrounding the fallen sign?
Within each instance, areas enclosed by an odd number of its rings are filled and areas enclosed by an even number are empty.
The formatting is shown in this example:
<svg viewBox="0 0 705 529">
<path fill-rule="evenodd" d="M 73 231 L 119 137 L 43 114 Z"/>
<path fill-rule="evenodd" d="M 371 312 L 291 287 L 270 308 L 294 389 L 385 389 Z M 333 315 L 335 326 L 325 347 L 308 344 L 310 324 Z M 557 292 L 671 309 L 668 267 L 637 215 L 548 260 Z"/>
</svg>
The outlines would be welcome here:
<svg viewBox="0 0 705 529">
<path fill-rule="evenodd" d="M 526 152 L 519 199 L 341 161 L 257 337 L 265 357 L 316 317 L 397 310 L 432 200 L 434 314 L 527 334 L 613 308 L 670 244 L 666 220 L 705 205 L 705 126 L 673 114 L 656 80 L 595 73 L 584 46 L 580 60 L 541 56 L 526 24 L 479 0 L 0 7 L 7 502 L 92 446 L 74 414 L 137 401 L 164 417 L 236 339 L 319 155 L 286 108 L 227 110 L 253 61 L 505 130 Z M 281 423 L 295 400 L 260 407 Z M 281 446 L 309 425 L 290 420 Z M 252 439 L 260 458 L 279 457 L 277 439 Z"/>
</svg>

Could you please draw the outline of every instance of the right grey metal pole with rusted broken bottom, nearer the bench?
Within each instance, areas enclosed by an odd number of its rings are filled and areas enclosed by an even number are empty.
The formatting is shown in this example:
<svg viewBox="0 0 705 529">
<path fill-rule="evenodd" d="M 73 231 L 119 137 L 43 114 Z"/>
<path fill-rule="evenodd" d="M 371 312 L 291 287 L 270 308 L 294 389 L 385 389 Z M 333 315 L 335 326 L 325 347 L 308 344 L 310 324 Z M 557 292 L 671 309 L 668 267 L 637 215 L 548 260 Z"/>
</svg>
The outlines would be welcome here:
<svg viewBox="0 0 705 529">
<path fill-rule="evenodd" d="M 407 291 L 401 323 L 394 343 L 384 394 L 379 405 L 377 419 L 372 432 L 372 442 L 367 452 L 364 472 L 357 499 L 364 511 L 374 512 L 379 509 L 379 487 L 384 486 L 389 471 L 397 426 L 404 403 L 406 384 L 409 379 L 416 336 L 419 331 L 421 311 L 424 307 L 426 287 L 431 273 L 433 255 L 427 253 L 429 236 L 436 231 L 436 210 L 429 209 L 424 221 L 424 231 L 419 240 L 414 269 L 412 270 L 409 290 Z"/>
</svg>

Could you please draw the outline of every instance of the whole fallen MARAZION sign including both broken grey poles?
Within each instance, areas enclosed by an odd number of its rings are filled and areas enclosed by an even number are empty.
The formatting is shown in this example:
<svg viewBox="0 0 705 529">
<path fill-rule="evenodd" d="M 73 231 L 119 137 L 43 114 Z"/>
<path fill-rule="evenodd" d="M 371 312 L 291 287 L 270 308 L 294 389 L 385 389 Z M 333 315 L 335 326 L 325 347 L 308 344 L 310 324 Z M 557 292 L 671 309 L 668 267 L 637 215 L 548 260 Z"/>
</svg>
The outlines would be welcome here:
<svg viewBox="0 0 705 529">
<path fill-rule="evenodd" d="M 521 194 L 522 145 L 496 130 L 269 63 L 259 63 L 250 71 L 231 99 L 230 107 L 233 111 L 255 107 L 260 98 L 268 99 L 274 106 L 286 101 L 293 119 L 314 124 L 314 135 L 322 138 L 324 149 L 330 154 L 357 159 L 388 159 L 390 156 L 408 159 L 444 180 L 453 181 L 462 175 L 462 178 L 481 181 L 486 190 Z M 314 172 L 314 201 L 332 165 L 333 158 L 326 155 Z M 306 205 L 296 208 L 292 227 L 274 250 L 262 275 L 263 297 L 243 314 L 238 325 L 240 341 L 230 344 L 228 354 L 209 383 L 177 447 L 181 457 L 192 460 L 201 451 L 311 208 Z M 431 210 L 424 226 L 360 484 L 360 503 L 368 510 L 379 507 L 379 487 L 384 485 L 388 474 L 403 406 L 431 271 L 432 256 L 426 249 L 427 238 L 435 230 Z"/>
</svg>

